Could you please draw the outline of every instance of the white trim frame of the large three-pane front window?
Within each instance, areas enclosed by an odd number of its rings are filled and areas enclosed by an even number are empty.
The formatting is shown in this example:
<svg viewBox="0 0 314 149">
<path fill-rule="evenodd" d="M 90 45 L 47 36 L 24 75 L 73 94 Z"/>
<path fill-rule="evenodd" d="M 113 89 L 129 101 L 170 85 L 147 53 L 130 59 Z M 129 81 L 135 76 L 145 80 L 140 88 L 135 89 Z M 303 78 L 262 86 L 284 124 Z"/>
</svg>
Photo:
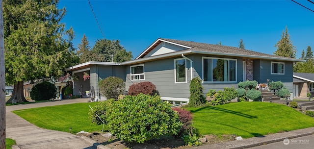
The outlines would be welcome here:
<svg viewBox="0 0 314 149">
<path fill-rule="evenodd" d="M 204 59 L 225 59 L 235 61 L 235 81 L 204 81 Z M 228 65 L 228 70 L 230 70 L 230 65 Z M 212 72 L 212 62 L 211 62 L 211 72 Z M 237 82 L 237 59 L 233 58 L 220 58 L 220 57 L 202 57 L 202 80 L 203 83 L 236 83 Z M 211 75 L 212 80 L 212 75 Z"/>
</svg>

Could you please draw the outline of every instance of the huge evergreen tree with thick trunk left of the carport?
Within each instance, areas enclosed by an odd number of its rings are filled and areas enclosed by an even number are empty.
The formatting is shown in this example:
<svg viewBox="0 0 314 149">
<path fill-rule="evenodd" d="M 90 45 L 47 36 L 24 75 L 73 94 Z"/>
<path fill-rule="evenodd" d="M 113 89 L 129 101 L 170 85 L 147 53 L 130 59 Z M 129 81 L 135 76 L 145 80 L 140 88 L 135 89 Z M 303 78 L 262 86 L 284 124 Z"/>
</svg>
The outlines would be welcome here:
<svg viewBox="0 0 314 149">
<path fill-rule="evenodd" d="M 14 84 L 7 103 L 26 102 L 24 81 L 60 76 L 77 64 L 73 29 L 60 23 L 58 0 L 3 0 L 6 82 Z"/>
</svg>

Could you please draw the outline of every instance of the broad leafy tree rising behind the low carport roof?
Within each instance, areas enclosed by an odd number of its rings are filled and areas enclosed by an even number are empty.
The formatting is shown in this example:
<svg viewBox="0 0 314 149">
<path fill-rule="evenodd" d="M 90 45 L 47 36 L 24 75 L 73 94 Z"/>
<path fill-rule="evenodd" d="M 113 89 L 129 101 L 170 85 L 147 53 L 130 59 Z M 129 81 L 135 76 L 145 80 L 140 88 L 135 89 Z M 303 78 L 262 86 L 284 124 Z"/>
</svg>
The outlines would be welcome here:
<svg viewBox="0 0 314 149">
<path fill-rule="evenodd" d="M 119 40 L 108 39 L 97 40 L 90 55 L 92 61 L 101 62 L 124 62 L 133 58 L 132 52 L 127 52 Z"/>
</svg>

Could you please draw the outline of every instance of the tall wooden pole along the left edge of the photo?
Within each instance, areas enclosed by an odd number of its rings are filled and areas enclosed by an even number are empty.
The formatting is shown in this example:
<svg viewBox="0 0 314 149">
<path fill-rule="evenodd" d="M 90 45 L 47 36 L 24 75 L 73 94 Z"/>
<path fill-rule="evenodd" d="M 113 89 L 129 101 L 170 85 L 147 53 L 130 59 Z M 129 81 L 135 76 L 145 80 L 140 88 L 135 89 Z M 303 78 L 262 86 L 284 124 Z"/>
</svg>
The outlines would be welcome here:
<svg viewBox="0 0 314 149">
<path fill-rule="evenodd" d="M 4 65 L 4 37 L 3 11 L 0 0 L 0 149 L 5 149 L 5 65 Z"/>
</svg>

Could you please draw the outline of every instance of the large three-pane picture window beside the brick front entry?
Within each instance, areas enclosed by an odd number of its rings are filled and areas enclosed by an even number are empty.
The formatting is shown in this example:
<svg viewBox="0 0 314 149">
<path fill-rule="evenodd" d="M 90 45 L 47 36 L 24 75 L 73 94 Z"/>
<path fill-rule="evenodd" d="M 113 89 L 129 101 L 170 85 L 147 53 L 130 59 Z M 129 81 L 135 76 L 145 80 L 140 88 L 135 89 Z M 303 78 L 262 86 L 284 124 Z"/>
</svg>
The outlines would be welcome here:
<svg viewBox="0 0 314 149">
<path fill-rule="evenodd" d="M 236 82 L 236 59 L 203 57 L 204 82 Z"/>
</svg>

